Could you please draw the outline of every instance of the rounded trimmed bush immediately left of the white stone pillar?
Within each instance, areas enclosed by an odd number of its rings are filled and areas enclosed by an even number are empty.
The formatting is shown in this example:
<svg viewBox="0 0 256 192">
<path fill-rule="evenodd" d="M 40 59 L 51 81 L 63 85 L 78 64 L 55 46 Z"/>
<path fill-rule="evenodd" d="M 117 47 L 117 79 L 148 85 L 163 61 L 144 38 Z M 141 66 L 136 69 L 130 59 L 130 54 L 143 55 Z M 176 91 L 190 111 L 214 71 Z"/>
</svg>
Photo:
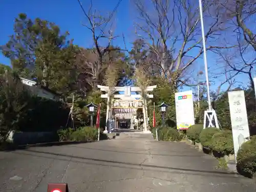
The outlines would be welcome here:
<svg viewBox="0 0 256 192">
<path fill-rule="evenodd" d="M 221 131 L 214 134 L 211 138 L 211 149 L 223 154 L 234 154 L 232 132 L 229 130 Z"/>
</svg>

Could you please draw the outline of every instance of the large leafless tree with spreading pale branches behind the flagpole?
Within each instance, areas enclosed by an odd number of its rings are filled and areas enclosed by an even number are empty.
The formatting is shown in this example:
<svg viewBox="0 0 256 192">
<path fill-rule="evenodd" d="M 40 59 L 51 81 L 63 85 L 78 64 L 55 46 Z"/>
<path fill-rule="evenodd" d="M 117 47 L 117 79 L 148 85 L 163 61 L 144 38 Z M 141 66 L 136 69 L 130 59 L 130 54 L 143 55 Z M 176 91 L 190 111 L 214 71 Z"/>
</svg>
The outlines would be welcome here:
<svg viewBox="0 0 256 192">
<path fill-rule="evenodd" d="M 182 79 L 184 72 L 203 53 L 198 5 L 189 0 L 151 0 L 146 4 L 138 0 L 135 7 L 139 13 L 139 20 L 135 23 L 136 34 L 148 51 L 144 65 L 151 68 L 149 70 L 154 74 L 185 85 L 187 80 Z M 215 38 L 214 44 L 209 45 L 207 50 L 229 49 L 229 46 L 216 45 L 219 31 L 225 29 L 218 5 L 211 0 L 204 1 L 203 11 L 207 18 L 205 38 L 207 41 Z"/>
</svg>

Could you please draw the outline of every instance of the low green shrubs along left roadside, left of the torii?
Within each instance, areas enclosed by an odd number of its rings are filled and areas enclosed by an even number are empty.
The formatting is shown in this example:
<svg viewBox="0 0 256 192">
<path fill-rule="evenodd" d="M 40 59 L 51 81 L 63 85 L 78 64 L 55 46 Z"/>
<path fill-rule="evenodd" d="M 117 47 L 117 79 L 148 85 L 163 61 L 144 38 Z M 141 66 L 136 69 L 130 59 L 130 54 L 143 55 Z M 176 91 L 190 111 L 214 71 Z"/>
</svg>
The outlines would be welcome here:
<svg viewBox="0 0 256 192">
<path fill-rule="evenodd" d="M 98 129 L 85 126 L 78 129 L 62 129 L 58 131 L 59 141 L 96 141 L 98 139 Z M 108 139 L 108 136 L 100 132 L 100 140 Z"/>
</svg>

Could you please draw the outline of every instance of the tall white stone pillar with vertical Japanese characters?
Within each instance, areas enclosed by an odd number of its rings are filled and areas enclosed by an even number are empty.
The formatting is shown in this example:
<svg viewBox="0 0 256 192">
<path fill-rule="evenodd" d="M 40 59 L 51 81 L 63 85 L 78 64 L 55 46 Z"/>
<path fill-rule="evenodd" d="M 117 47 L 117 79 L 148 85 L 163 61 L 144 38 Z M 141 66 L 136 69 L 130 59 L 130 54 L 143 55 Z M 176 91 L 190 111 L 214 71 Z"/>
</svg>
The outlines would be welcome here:
<svg viewBox="0 0 256 192">
<path fill-rule="evenodd" d="M 250 137 L 244 91 L 228 92 L 228 102 L 234 143 L 234 157 L 240 146 Z"/>
</svg>

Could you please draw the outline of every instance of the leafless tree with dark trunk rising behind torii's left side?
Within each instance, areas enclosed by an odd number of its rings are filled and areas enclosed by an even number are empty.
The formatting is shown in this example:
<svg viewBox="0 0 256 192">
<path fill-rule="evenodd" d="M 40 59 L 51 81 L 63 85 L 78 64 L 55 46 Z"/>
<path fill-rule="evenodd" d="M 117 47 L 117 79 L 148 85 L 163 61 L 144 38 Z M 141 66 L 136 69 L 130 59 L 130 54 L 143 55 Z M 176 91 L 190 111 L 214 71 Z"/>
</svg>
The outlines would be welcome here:
<svg viewBox="0 0 256 192">
<path fill-rule="evenodd" d="M 80 3 L 79 0 L 78 2 Z M 124 66 L 125 62 L 122 59 L 120 60 L 120 57 L 124 57 L 124 54 L 120 51 L 127 50 L 122 50 L 112 45 L 113 40 L 118 37 L 114 35 L 113 24 L 106 28 L 114 11 L 109 17 L 102 16 L 96 10 L 93 10 L 92 0 L 90 1 L 88 12 L 83 8 L 82 10 L 87 19 L 86 24 L 82 24 L 82 26 L 85 26 L 91 32 L 94 46 L 92 49 L 80 49 L 80 76 L 84 78 L 83 81 L 86 81 L 91 86 L 91 89 L 97 89 L 97 84 L 106 82 L 104 75 L 108 72 L 106 69 L 109 66 L 119 65 L 119 72 L 120 74 L 123 73 L 121 71 L 126 67 Z M 102 44 L 101 39 L 106 44 Z M 120 77 L 120 74 L 118 77 Z M 118 82 L 120 80 L 118 79 Z"/>
</svg>

